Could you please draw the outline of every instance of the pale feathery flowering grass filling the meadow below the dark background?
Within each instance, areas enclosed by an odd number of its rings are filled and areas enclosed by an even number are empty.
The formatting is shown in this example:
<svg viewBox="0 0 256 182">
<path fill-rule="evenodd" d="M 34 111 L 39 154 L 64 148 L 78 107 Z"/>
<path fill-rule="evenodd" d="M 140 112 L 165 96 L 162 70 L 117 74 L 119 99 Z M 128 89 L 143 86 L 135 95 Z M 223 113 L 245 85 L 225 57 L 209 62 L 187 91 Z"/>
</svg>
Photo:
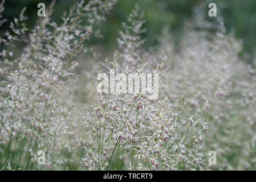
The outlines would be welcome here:
<svg viewBox="0 0 256 182">
<path fill-rule="evenodd" d="M 104 52 L 87 42 L 101 37 L 97 25 L 115 3 L 81 1 L 56 24 L 52 2 L 32 30 L 26 9 L 10 23 L 0 38 L 0 168 L 256 169 L 256 71 L 239 59 L 241 43 L 221 19 L 217 27 L 202 17 L 188 22 L 179 51 L 165 28 L 160 45 L 145 51 L 136 6 L 117 51 L 102 61 Z M 112 69 L 158 73 L 159 98 L 99 94 L 97 74 Z M 38 151 L 46 153 L 45 165 Z M 217 153 L 213 166 L 210 151 Z"/>
</svg>

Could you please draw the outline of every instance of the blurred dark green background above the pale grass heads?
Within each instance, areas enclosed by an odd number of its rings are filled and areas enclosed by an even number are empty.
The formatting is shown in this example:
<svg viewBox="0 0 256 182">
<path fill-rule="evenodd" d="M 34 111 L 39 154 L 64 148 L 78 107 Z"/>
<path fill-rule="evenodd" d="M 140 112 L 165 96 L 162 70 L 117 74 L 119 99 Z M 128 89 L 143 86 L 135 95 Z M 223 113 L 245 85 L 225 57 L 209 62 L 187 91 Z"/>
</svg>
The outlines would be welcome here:
<svg viewBox="0 0 256 182">
<path fill-rule="evenodd" d="M 21 9 L 26 6 L 26 15 L 28 26 L 31 28 L 36 23 L 37 4 L 43 2 L 46 8 L 50 5 L 51 0 L 7 0 L 5 3 L 4 18 L 9 20 L 18 16 Z M 76 1 L 57 0 L 53 19 L 61 22 L 60 17 L 68 7 Z M 172 29 L 173 40 L 177 42 L 182 37 L 184 22 L 189 20 L 193 15 L 193 8 L 202 5 L 205 8 L 205 15 L 208 16 L 208 5 L 214 2 L 217 5 L 217 16 L 224 18 L 224 23 L 229 32 L 234 31 L 237 39 L 243 40 L 243 51 L 241 56 L 247 63 L 253 62 L 256 46 L 256 1 L 255 0 L 119 0 L 115 9 L 107 17 L 107 22 L 101 23 L 101 32 L 104 38 L 101 40 L 92 40 L 91 44 L 99 43 L 105 49 L 111 50 L 116 47 L 116 38 L 121 28 L 121 22 L 127 19 L 127 15 L 138 3 L 141 10 L 145 13 L 145 27 L 147 32 L 143 35 L 147 38 L 145 47 L 158 44 L 162 28 L 166 25 Z M 212 17 L 214 18 L 214 17 Z M 2 33 L 7 26 L 0 30 Z"/>
</svg>

